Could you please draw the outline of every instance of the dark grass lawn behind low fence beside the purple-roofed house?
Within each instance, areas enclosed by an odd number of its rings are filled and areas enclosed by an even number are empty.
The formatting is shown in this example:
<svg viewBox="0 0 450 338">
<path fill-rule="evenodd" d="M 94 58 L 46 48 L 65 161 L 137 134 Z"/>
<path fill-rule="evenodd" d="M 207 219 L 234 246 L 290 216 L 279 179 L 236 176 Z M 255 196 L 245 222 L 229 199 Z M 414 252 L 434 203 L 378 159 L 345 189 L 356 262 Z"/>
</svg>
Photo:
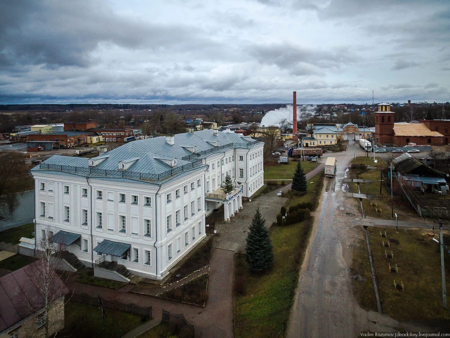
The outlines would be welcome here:
<svg viewBox="0 0 450 338">
<path fill-rule="evenodd" d="M 64 330 L 58 337 L 119 338 L 143 324 L 141 316 L 106 309 L 107 320 L 103 327 L 98 306 L 68 301 L 64 307 Z"/>
</svg>

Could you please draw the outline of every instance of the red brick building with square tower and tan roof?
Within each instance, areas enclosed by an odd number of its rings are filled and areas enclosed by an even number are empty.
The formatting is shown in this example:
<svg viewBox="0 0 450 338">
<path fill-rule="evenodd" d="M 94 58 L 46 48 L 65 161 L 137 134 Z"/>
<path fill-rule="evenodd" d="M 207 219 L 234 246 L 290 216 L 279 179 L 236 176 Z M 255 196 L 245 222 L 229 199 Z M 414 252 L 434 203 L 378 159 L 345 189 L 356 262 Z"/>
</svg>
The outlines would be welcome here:
<svg viewBox="0 0 450 338">
<path fill-rule="evenodd" d="M 375 112 L 375 142 L 377 144 L 408 143 L 443 145 L 449 143 L 450 120 L 419 120 L 419 123 L 395 123 L 395 113 L 388 103 L 378 104 Z"/>
</svg>

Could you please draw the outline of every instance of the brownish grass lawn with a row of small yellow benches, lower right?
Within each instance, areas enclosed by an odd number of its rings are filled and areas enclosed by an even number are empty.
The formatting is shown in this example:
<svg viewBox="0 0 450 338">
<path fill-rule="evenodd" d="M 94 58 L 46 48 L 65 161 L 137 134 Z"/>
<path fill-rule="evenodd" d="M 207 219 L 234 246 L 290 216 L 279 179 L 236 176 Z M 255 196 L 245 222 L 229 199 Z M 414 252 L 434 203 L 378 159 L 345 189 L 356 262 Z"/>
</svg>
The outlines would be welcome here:
<svg viewBox="0 0 450 338">
<path fill-rule="evenodd" d="M 382 246 L 380 230 L 386 230 L 391 246 Z M 432 241 L 427 229 L 369 227 L 370 245 L 374 255 L 383 312 L 397 320 L 421 320 L 430 325 L 450 324 L 450 311 L 442 306 L 440 246 Z M 444 241 L 450 239 L 444 232 Z M 392 251 L 393 259 L 385 256 Z M 446 263 L 446 288 L 450 290 L 450 259 Z M 388 263 L 397 264 L 398 274 L 389 272 Z M 404 291 L 394 289 L 394 279 L 401 280 Z M 372 291 L 373 292 L 373 291 Z"/>
</svg>

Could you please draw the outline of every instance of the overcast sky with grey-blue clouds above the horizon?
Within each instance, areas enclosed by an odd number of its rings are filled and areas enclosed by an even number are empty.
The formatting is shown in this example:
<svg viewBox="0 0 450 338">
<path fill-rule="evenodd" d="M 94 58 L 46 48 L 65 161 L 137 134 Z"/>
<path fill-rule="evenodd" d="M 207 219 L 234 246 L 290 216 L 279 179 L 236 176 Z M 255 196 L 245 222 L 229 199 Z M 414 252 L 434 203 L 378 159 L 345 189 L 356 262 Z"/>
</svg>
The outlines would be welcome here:
<svg viewBox="0 0 450 338">
<path fill-rule="evenodd" d="M 449 0 L 0 2 L 0 103 L 450 100 Z"/>
</svg>

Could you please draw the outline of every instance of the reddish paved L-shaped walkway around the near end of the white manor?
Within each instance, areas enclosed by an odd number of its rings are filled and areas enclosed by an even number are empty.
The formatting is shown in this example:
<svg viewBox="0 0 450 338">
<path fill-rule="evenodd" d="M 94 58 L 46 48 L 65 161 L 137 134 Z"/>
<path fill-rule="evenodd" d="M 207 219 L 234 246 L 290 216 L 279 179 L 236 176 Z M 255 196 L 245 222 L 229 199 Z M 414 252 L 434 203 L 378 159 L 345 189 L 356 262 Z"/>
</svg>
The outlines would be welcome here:
<svg viewBox="0 0 450 338">
<path fill-rule="evenodd" d="M 135 303 L 138 306 L 152 306 L 153 318 L 162 319 L 162 309 L 172 313 L 183 313 L 195 327 L 196 337 L 234 337 L 233 325 L 233 275 L 234 251 L 213 248 L 208 281 L 208 298 L 205 307 L 137 294 L 130 291 L 130 284 L 113 290 L 101 286 L 84 284 L 69 279 L 67 287 L 74 293 L 98 294 L 115 302 Z"/>
</svg>

